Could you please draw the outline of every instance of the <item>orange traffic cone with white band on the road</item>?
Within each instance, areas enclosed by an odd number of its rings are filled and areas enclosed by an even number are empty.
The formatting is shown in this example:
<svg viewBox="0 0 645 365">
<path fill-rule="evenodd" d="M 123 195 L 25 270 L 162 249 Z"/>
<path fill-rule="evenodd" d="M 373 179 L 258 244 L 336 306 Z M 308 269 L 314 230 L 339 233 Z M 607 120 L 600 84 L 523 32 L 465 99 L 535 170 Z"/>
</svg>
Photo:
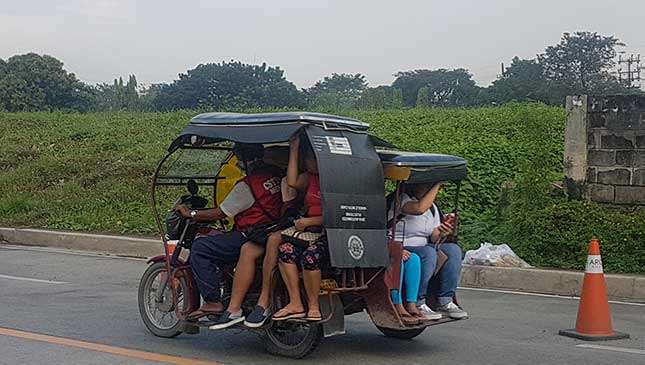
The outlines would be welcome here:
<svg viewBox="0 0 645 365">
<path fill-rule="evenodd" d="M 560 335 L 585 341 L 616 340 L 629 337 L 628 334 L 616 332 L 612 328 L 605 274 L 600 258 L 600 244 L 596 238 L 593 238 L 589 243 L 589 255 L 582 283 L 576 328 L 561 330 Z"/>
</svg>

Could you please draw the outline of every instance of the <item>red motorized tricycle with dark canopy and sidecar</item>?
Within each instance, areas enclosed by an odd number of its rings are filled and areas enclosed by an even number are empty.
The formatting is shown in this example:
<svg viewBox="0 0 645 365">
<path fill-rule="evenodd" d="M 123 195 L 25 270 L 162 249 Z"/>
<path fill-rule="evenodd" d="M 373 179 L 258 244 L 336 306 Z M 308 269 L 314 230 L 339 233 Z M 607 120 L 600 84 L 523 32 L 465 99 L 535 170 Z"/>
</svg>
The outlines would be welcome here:
<svg viewBox="0 0 645 365">
<path fill-rule="evenodd" d="M 393 239 L 386 206 L 391 202 L 395 211 L 400 209 L 398 197 L 405 182 L 452 181 L 458 187 L 466 177 L 466 161 L 456 156 L 397 151 L 390 143 L 370 135 L 368 129 L 368 124 L 354 119 L 307 112 L 195 116 L 172 141 L 152 178 L 152 211 L 163 253 L 148 260 L 138 293 L 141 318 L 150 332 L 175 337 L 208 328 L 208 320 L 188 318 L 201 303 L 188 252 L 204 225 L 221 231 L 231 227 L 226 220 L 205 224 L 166 212 L 172 212 L 177 202 L 192 209 L 222 202 L 243 176 L 231 153 L 234 143 L 262 144 L 265 162 L 284 169 L 287 141 L 296 134 L 309 140 L 320 174 L 329 251 L 329 267 L 322 273 L 320 293 L 323 319 L 269 320 L 261 328 L 248 330 L 262 336 L 268 352 L 302 358 L 324 337 L 343 334 L 344 317 L 352 313 L 367 311 L 379 331 L 402 339 L 414 338 L 429 326 L 454 321 L 443 318 L 410 325 L 395 310 L 390 292 L 400 286 L 403 248 Z M 208 197 L 200 195 L 203 188 L 209 190 Z M 387 190 L 391 190 L 389 200 Z M 455 195 L 456 211 L 458 188 Z M 175 201 L 177 196 L 180 198 Z M 235 272 L 233 267 L 224 271 L 221 291 L 226 304 Z M 275 310 L 287 303 L 288 296 L 278 270 L 272 282 Z M 260 285 L 256 280 L 251 286 L 245 312 L 252 310 Z"/>
</svg>

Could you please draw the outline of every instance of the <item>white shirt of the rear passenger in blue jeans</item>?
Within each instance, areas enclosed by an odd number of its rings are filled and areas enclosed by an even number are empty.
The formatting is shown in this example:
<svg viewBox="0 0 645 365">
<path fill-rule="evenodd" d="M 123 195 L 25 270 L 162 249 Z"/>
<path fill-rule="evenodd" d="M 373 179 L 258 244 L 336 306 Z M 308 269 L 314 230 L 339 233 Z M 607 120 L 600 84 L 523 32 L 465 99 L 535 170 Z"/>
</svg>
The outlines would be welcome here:
<svg viewBox="0 0 645 365">
<path fill-rule="evenodd" d="M 410 201 L 418 201 L 415 197 L 403 193 L 401 194 L 401 207 Z M 435 214 L 432 214 L 434 207 Z M 403 242 L 403 246 L 425 246 L 428 244 L 432 231 L 441 225 L 439 209 L 432 204 L 432 207 L 421 215 L 406 214 L 396 224 L 394 239 Z M 388 219 L 394 215 L 394 207 L 388 212 Z"/>
</svg>

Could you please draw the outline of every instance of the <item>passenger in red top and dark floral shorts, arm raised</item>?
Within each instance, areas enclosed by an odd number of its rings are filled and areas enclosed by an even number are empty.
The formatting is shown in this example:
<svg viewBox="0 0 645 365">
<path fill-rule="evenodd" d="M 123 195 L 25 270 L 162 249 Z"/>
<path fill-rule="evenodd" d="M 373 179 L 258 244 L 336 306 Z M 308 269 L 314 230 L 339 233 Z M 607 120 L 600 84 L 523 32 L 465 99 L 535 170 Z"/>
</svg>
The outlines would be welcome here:
<svg viewBox="0 0 645 365">
<path fill-rule="evenodd" d="M 320 199 L 320 179 L 318 166 L 311 146 L 304 148 L 304 164 L 306 172 L 299 174 L 298 153 L 300 139 L 289 141 L 289 165 L 287 167 L 287 183 L 294 189 L 305 193 L 304 218 L 297 219 L 295 228 L 299 232 L 307 230 L 322 230 L 322 203 Z M 289 292 L 289 303 L 273 315 L 274 321 L 291 318 L 306 318 L 310 321 L 320 321 L 322 315 L 318 306 L 320 293 L 321 266 L 326 259 L 326 247 L 320 241 L 311 243 L 308 247 L 283 242 L 279 248 L 279 267 L 282 279 Z M 303 270 L 303 281 L 307 292 L 308 311 L 300 297 L 300 279 L 298 266 Z"/>
</svg>

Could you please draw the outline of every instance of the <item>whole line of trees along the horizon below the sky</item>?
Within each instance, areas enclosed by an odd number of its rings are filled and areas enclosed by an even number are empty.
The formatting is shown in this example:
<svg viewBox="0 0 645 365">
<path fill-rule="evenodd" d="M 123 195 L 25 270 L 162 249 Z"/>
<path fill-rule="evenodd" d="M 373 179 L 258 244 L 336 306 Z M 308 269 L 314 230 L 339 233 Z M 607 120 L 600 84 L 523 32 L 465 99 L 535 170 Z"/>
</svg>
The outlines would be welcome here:
<svg viewBox="0 0 645 365">
<path fill-rule="evenodd" d="M 562 104 L 566 95 L 640 93 L 615 73 L 619 39 L 595 32 L 564 33 L 532 59 L 515 57 L 488 87 L 464 68 L 394 74 L 388 86 L 370 87 L 365 75 L 334 73 L 298 89 L 278 66 L 239 61 L 200 64 L 172 83 L 140 87 L 130 75 L 88 85 L 48 55 L 0 59 L 0 111 L 169 111 L 242 108 L 468 107 L 511 101 Z"/>
</svg>

